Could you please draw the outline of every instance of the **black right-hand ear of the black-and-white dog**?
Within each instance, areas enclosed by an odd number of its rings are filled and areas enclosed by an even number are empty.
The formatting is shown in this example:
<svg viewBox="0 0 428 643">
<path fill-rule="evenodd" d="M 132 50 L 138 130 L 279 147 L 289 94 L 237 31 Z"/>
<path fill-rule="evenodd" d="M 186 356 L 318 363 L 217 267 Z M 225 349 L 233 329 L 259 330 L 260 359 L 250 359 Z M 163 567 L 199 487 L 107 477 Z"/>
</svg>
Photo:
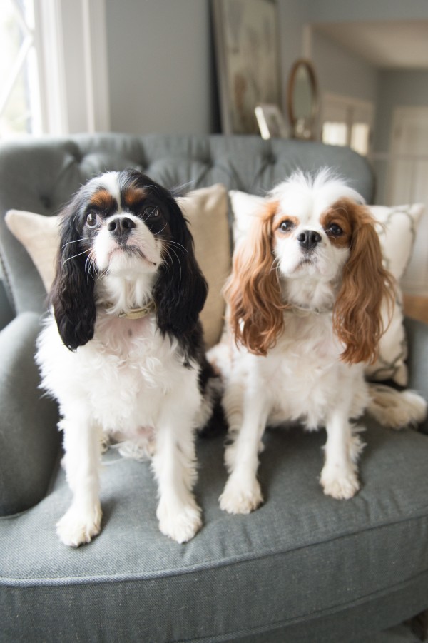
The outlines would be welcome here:
<svg viewBox="0 0 428 643">
<path fill-rule="evenodd" d="M 158 327 L 180 337 L 193 331 L 207 298 L 208 285 L 195 258 L 193 237 L 173 196 L 168 195 L 171 241 L 165 241 L 161 273 L 153 288 Z"/>
</svg>

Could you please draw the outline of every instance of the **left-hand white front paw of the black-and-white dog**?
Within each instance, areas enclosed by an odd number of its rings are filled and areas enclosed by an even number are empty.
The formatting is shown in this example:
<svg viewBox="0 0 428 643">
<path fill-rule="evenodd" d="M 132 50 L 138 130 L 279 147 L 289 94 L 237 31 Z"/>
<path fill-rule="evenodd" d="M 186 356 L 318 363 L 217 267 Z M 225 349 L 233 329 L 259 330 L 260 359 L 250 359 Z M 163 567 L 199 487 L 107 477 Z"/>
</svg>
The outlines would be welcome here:
<svg viewBox="0 0 428 643">
<path fill-rule="evenodd" d="M 78 547 L 101 531 L 101 507 L 96 505 L 90 511 L 79 511 L 71 507 L 56 523 L 59 540 L 69 547 Z"/>
</svg>

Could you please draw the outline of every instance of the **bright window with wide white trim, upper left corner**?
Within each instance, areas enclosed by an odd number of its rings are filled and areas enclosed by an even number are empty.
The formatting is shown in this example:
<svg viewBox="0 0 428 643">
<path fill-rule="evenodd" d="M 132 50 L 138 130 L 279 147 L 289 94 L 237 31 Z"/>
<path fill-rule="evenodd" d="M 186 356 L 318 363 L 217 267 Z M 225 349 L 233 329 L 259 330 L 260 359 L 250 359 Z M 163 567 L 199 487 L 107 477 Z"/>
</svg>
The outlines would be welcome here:
<svg viewBox="0 0 428 643">
<path fill-rule="evenodd" d="M 0 138 L 110 128 L 105 0 L 0 0 Z"/>
</svg>

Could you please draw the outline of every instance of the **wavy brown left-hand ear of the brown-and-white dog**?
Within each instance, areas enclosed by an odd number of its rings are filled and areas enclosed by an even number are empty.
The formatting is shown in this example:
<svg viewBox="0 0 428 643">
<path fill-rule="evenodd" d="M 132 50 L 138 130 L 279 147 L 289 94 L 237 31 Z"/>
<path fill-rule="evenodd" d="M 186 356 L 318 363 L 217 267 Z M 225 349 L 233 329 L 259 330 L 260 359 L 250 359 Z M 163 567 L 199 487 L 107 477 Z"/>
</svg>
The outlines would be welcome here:
<svg viewBox="0 0 428 643">
<path fill-rule="evenodd" d="M 272 218 L 276 211 L 277 203 L 272 201 L 255 218 L 248 237 L 235 250 L 232 274 L 225 286 L 235 340 L 256 355 L 266 355 L 284 324 L 272 255 Z"/>
</svg>

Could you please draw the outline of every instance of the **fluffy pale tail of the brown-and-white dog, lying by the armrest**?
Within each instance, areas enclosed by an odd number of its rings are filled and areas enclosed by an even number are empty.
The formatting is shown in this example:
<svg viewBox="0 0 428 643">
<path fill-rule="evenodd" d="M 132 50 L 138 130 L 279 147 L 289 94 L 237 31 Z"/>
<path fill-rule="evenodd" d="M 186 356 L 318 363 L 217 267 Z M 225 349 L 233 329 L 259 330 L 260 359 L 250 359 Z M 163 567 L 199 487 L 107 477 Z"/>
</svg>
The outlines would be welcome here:
<svg viewBox="0 0 428 643">
<path fill-rule="evenodd" d="M 397 391 L 384 384 L 370 384 L 370 396 L 367 410 L 385 427 L 416 426 L 427 417 L 427 402 L 412 390 Z"/>
</svg>

